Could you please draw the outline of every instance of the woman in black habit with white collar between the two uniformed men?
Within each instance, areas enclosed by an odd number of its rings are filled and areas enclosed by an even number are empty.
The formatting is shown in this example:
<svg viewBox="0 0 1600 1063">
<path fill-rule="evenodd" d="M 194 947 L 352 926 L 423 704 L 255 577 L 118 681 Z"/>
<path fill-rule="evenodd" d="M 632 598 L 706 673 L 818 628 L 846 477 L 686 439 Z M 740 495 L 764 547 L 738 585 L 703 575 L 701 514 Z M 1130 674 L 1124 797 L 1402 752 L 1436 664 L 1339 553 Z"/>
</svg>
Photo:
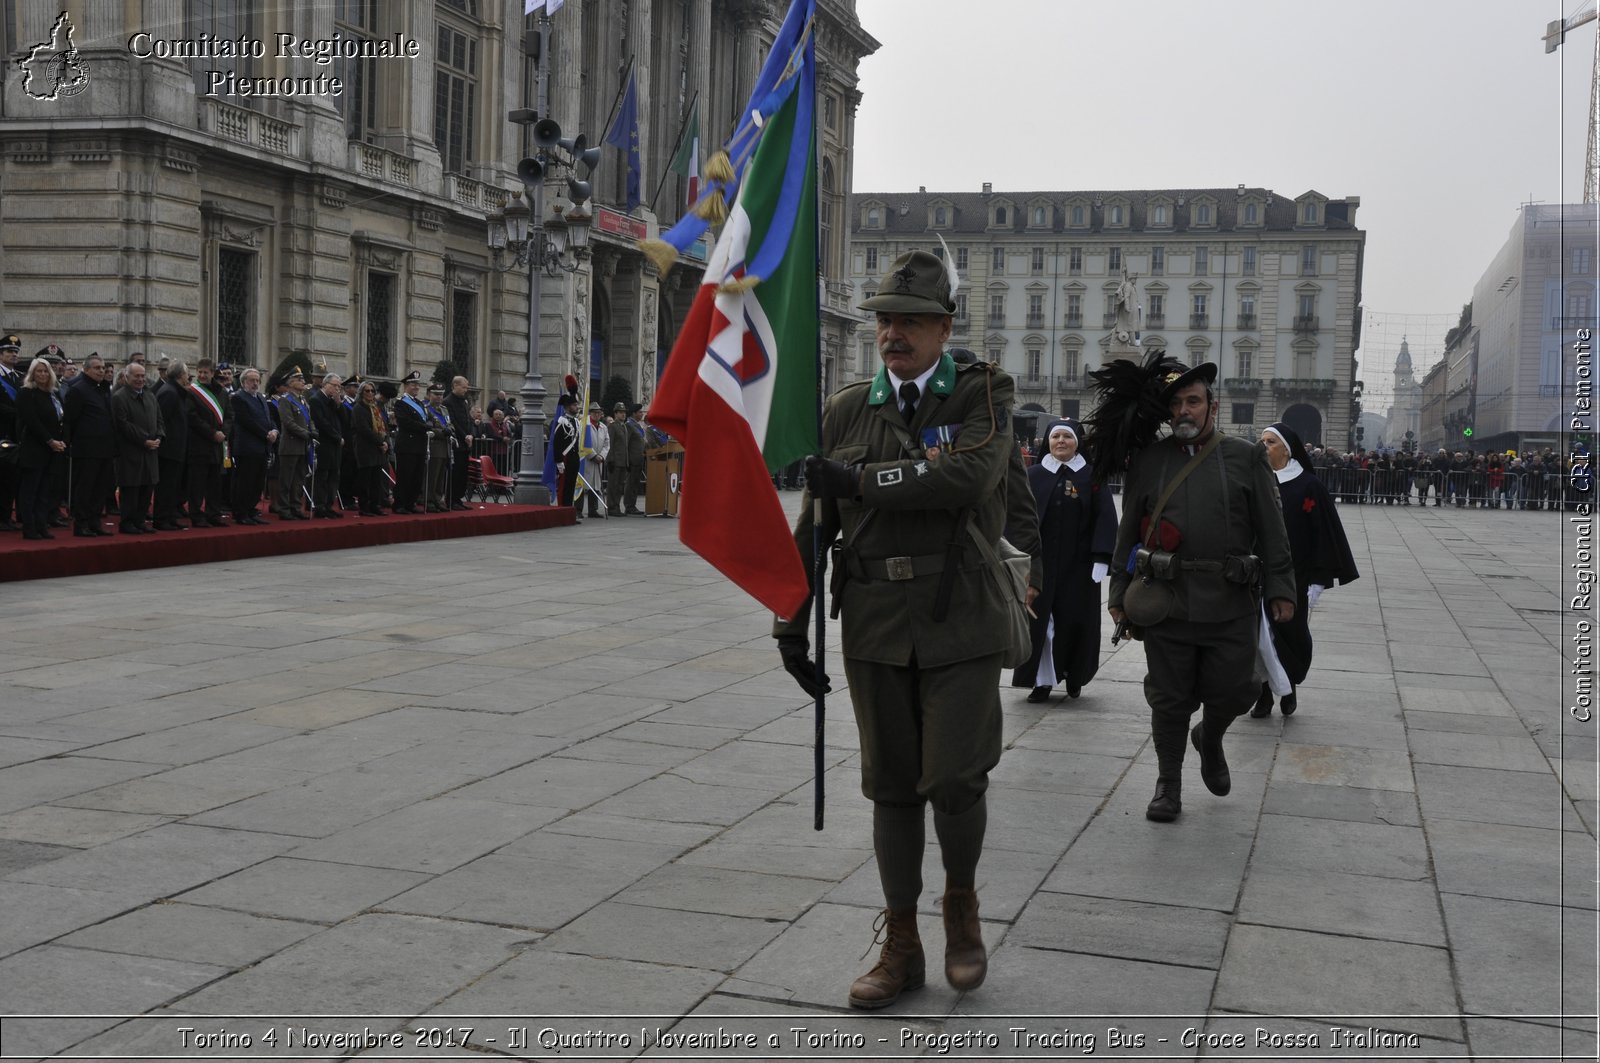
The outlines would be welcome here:
<svg viewBox="0 0 1600 1063">
<path fill-rule="evenodd" d="M 1075 698 L 1099 671 L 1099 584 L 1117 544 L 1117 506 L 1091 479 L 1078 453 L 1083 429 L 1070 418 L 1045 429 L 1050 448 L 1027 471 L 1038 512 L 1045 586 L 1034 600 L 1034 655 L 1011 676 L 1013 687 L 1032 687 L 1029 701 L 1046 701 L 1066 680 Z"/>
</svg>

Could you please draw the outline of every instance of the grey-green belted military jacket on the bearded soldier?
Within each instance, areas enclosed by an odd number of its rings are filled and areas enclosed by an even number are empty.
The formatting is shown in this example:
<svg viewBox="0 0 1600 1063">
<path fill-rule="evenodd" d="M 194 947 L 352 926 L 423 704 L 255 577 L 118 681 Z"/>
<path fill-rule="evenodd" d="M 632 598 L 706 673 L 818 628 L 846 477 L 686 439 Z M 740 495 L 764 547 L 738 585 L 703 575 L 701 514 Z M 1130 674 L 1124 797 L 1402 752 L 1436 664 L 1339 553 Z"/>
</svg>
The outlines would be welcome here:
<svg viewBox="0 0 1600 1063">
<path fill-rule="evenodd" d="M 1122 523 L 1110 562 L 1109 607 L 1122 608 L 1123 592 L 1133 580 L 1128 556 L 1142 543 L 1141 522 L 1186 464 L 1189 453 L 1168 435 L 1139 451 L 1128 466 Z M 1179 532 L 1181 541 L 1173 551 L 1179 562 L 1219 562 L 1227 556 L 1256 554 L 1261 557 L 1266 597 L 1294 600 L 1294 560 L 1283 530 L 1277 477 L 1262 443 L 1221 437 L 1216 450 L 1173 491 L 1162 520 Z M 1227 581 L 1221 572 L 1179 568 L 1173 591 L 1173 620 L 1234 620 L 1258 608 L 1254 591 Z"/>
</svg>

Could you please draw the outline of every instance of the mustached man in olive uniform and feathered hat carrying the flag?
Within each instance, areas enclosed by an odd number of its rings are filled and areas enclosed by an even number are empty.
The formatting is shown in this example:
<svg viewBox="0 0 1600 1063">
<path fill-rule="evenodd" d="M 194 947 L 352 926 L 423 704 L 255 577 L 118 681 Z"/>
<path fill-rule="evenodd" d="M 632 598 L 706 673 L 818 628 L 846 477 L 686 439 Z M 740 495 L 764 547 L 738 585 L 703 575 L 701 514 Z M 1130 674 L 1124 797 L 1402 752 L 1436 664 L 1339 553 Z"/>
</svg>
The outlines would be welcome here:
<svg viewBox="0 0 1600 1063">
<path fill-rule="evenodd" d="M 878 962 L 850 989 L 861 1009 L 893 1004 L 925 980 L 917 905 L 928 805 L 946 872 L 946 980 L 973 989 L 987 973 L 974 887 L 984 792 L 1000 760 L 1006 624 L 974 535 L 994 544 L 1005 523 L 1013 383 L 944 351 L 955 283 L 938 258 L 910 251 L 862 303 L 877 315 L 883 368 L 827 400 L 822 456 L 806 463 L 795 525 L 810 559 L 811 499 L 821 495 L 822 544 L 843 538 L 834 604 L 886 903 Z M 814 692 L 808 612 L 779 620 L 773 634 L 784 668 Z"/>
</svg>

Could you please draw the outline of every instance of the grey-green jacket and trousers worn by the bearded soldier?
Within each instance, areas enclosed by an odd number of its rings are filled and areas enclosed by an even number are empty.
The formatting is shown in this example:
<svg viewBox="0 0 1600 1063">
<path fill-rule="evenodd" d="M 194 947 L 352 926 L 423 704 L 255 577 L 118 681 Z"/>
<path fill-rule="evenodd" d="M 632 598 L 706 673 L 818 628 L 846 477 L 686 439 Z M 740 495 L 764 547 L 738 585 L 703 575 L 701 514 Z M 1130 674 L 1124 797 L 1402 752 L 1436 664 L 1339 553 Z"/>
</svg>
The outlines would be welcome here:
<svg viewBox="0 0 1600 1063">
<path fill-rule="evenodd" d="M 1214 431 L 1214 429 L 1213 429 Z M 1166 437 L 1128 466 L 1122 523 L 1110 565 L 1110 608 L 1123 608 L 1133 576 L 1128 554 L 1144 540 L 1141 523 L 1155 509 L 1166 483 L 1189 463 L 1192 447 Z M 1261 559 L 1267 599 L 1294 600 L 1294 562 L 1277 480 L 1259 442 L 1224 435 L 1218 447 L 1173 491 L 1162 520 L 1178 528 L 1173 551 L 1179 567 L 1171 580 L 1171 615 L 1144 634 L 1144 698 L 1150 706 L 1160 780 L 1182 775 L 1189 717 L 1205 704 L 1203 733 L 1221 743 L 1227 725 L 1250 709 L 1258 692 L 1256 639 L 1261 624 L 1258 591 L 1229 581 L 1222 559 Z"/>
</svg>

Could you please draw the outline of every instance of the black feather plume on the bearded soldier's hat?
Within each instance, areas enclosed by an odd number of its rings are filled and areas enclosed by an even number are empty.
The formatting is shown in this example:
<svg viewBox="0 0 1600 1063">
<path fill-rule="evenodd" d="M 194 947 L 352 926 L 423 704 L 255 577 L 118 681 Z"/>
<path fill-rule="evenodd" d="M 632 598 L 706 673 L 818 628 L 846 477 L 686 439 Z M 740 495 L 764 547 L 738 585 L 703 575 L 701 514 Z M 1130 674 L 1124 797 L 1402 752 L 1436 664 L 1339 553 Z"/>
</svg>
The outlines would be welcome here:
<svg viewBox="0 0 1600 1063">
<path fill-rule="evenodd" d="M 1168 357 L 1162 347 L 1150 349 L 1144 362 L 1112 359 L 1093 373 L 1090 386 L 1099 394 L 1099 405 L 1083 418 L 1082 445 L 1094 480 L 1102 483 L 1122 475 L 1128 459 L 1155 442 L 1162 426 L 1171 419 L 1166 403 L 1173 392 L 1194 381 L 1216 381 L 1216 363 L 1202 362 L 1190 368 Z"/>
</svg>

